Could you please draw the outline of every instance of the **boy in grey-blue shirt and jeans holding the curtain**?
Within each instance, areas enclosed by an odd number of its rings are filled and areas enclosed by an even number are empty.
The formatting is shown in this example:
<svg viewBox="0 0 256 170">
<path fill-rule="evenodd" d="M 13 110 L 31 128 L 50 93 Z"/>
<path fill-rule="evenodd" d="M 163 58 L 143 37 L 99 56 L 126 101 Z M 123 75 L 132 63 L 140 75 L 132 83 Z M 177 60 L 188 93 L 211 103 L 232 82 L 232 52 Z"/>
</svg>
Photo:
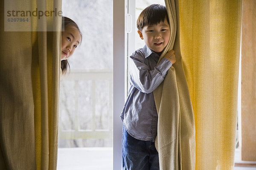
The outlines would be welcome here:
<svg viewBox="0 0 256 170">
<path fill-rule="evenodd" d="M 145 46 L 130 56 L 131 88 L 121 113 L 122 169 L 159 170 L 158 153 L 154 146 L 158 116 L 153 91 L 176 62 L 172 50 L 157 65 L 170 39 L 166 7 L 153 4 L 145 8 L 138 17 L 137 28 Z"/>
</svg>

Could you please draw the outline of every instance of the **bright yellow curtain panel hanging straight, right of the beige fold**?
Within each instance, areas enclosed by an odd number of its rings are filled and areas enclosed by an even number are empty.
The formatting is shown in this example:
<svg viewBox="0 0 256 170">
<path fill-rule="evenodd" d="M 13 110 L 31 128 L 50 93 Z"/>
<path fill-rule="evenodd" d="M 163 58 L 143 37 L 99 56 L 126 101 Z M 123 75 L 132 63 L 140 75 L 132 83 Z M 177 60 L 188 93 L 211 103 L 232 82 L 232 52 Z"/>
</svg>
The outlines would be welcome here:
<svg viewBox="0 0 256 170">
<path fill-rule="evenodd" d="M 242 3 L 180 0 L 179 5 L 181 54 L 195 115 L 196 169 L 232 170 Z"/>
</svg>

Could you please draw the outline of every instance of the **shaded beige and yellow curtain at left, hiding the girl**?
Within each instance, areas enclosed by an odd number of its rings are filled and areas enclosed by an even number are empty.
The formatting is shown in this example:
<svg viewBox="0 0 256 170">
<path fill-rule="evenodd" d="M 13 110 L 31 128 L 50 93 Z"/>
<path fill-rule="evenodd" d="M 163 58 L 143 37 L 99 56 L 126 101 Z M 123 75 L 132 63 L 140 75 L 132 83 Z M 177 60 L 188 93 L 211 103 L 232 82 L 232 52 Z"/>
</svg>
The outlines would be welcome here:
<svg viewBox="0 0 256 170">
<path fill-rule="evenodd" d="M 0 1 L 0 169 L 55 170 L 61 17 L 8 28 L 9 3 Z M 11 7 L 61 11 L 61 0 L 13 0 Z"/>
</svg>

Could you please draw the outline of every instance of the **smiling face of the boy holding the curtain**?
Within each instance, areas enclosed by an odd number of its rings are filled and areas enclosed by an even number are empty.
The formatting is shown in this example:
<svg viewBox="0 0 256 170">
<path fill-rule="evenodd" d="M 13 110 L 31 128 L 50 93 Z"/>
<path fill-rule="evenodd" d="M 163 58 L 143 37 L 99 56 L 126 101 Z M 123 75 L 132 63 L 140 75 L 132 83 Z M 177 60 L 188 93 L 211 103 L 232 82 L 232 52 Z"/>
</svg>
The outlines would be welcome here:
<svg viewBox="0 0 256 170">
<path fill-rule="evenodd" d="M 153 26 L 144 26 L 142 31 L 138 30 L 140 38 L 145 44 L 158 55 L 162 53 L 170 39 L 170 26 L 165 19 Z"/>
</svg>

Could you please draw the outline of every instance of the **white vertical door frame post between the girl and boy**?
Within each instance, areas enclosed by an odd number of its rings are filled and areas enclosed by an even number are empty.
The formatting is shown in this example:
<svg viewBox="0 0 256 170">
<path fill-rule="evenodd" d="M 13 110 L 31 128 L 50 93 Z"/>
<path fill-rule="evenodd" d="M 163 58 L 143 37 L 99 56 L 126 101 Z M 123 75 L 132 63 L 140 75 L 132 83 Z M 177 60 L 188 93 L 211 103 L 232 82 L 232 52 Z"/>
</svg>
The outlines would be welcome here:
<svg viewBox="0 0 256 170">
<path fill-rule="evenodd" d="M 125 0 L 113 0 L 113 170 L 122 163 L 122 121 L 125 103 Z"/>
</svg>

